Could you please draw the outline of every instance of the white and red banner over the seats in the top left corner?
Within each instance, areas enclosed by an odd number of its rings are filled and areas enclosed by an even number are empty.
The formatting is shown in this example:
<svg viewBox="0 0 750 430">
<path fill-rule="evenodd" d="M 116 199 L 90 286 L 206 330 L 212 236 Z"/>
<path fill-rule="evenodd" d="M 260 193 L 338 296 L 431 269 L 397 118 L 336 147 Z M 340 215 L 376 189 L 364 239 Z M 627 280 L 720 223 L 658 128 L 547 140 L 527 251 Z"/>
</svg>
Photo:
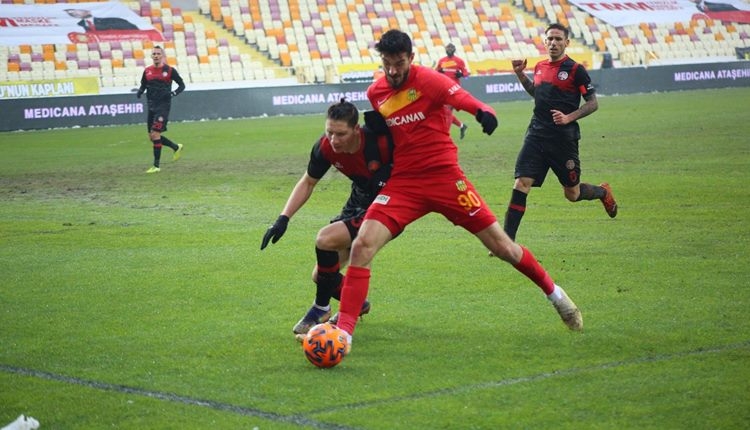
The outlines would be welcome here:
<svg viewBox="0 0 750 430">
<path fill-rule="evenodd" d="M 119 2 L 0 4 L 0 45 L 164 40 Z"/>
</svg>

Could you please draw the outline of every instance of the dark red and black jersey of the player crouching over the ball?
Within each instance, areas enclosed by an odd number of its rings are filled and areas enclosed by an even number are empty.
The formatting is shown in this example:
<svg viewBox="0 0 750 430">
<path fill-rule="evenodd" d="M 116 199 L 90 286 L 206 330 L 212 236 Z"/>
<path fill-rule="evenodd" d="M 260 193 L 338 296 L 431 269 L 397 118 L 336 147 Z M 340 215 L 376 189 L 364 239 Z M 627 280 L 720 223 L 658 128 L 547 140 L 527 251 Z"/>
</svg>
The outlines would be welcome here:
<svg viewBox="0 0 750 430">
<path fill-rule="evenodd" d="M 377 192 L 371 187 L 370 179 L 381 166 L 392 163 L 393 143 L 390 136 L 376 135 L 366 127 L 360 129 L 360 145 L 354 154 L 336 154 L 331 149 L 328 137 L 321 136 L 310 151 L 307 174 L 320 179 L 331 166 L 352 181 L 352 192 L 344 206 L 347 209 L 366 210 L 375 199 Z"/>
</svg>

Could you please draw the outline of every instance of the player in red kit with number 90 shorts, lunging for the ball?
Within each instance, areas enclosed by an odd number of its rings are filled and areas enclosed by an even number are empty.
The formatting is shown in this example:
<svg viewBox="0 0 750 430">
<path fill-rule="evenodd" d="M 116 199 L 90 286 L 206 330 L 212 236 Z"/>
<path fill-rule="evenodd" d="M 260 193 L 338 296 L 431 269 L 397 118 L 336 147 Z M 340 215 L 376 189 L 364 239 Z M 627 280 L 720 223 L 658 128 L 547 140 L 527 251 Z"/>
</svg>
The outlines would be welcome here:
<svg viewBox="0 0 750 430">
<path fill-rule="evenodd" d="M 494 255 L 531 279 L 547 295 L 568 328 L 582 329 L 583 319 L 573 301 L 528 249 L 505 234 L 458 164 L 458 149 L 447 121 L 450 112 L 445 105 L 474 115 L 486 134 L 492 134 L 497 127 L 494 110 L 435 70 L 413 65 L 412 42 L 406 33 L 385 32 L 375 49 L 383 61 L 386 79 L 370 85 L 367 97 L 383 115 L 393 136 L 393 171 L 367 210 L 352 243 L 338 327 L 351 340 L 369 290 L 370 265 L 375 254 L 407 225 L 438 212 L 474 234 Z"/>
</svg>

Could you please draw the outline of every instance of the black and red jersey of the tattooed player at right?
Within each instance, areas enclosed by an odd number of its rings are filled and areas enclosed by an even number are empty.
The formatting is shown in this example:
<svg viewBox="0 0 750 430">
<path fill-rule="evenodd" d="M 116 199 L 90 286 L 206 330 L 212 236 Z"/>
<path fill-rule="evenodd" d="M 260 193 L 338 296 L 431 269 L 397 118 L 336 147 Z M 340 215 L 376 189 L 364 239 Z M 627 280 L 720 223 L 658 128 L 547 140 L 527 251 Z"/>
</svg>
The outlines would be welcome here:
<svg viewBox="0 0 750 430">
<path fill-rule="evenodd" d="M 542 126 L 559 128 L 552 109 L 569 114 L 581 105 L 581 97 L 595 92 L 586 68 L 567 55 L 559 61 L 543 60 L 534 67 L 534 116 Z M 565 127 L 577 128 L 577 122 Z"/>
</svg>

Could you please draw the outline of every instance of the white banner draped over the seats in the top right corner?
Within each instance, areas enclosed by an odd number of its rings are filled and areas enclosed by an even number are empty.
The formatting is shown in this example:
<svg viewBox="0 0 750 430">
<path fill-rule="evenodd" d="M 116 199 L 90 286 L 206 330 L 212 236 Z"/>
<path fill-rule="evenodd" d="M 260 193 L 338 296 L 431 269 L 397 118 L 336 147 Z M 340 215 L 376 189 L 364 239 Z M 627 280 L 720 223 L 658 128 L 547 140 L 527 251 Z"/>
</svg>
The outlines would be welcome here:
<svg viewBox="0 0 750 430">
<path fill-rule="evenodd" d="M 570 0 L 587 13 L 615 27 L 640 23 L 688 22 L 715 19 L 750 23 L 750 3 L 746 0 Z"/>
</svg>

